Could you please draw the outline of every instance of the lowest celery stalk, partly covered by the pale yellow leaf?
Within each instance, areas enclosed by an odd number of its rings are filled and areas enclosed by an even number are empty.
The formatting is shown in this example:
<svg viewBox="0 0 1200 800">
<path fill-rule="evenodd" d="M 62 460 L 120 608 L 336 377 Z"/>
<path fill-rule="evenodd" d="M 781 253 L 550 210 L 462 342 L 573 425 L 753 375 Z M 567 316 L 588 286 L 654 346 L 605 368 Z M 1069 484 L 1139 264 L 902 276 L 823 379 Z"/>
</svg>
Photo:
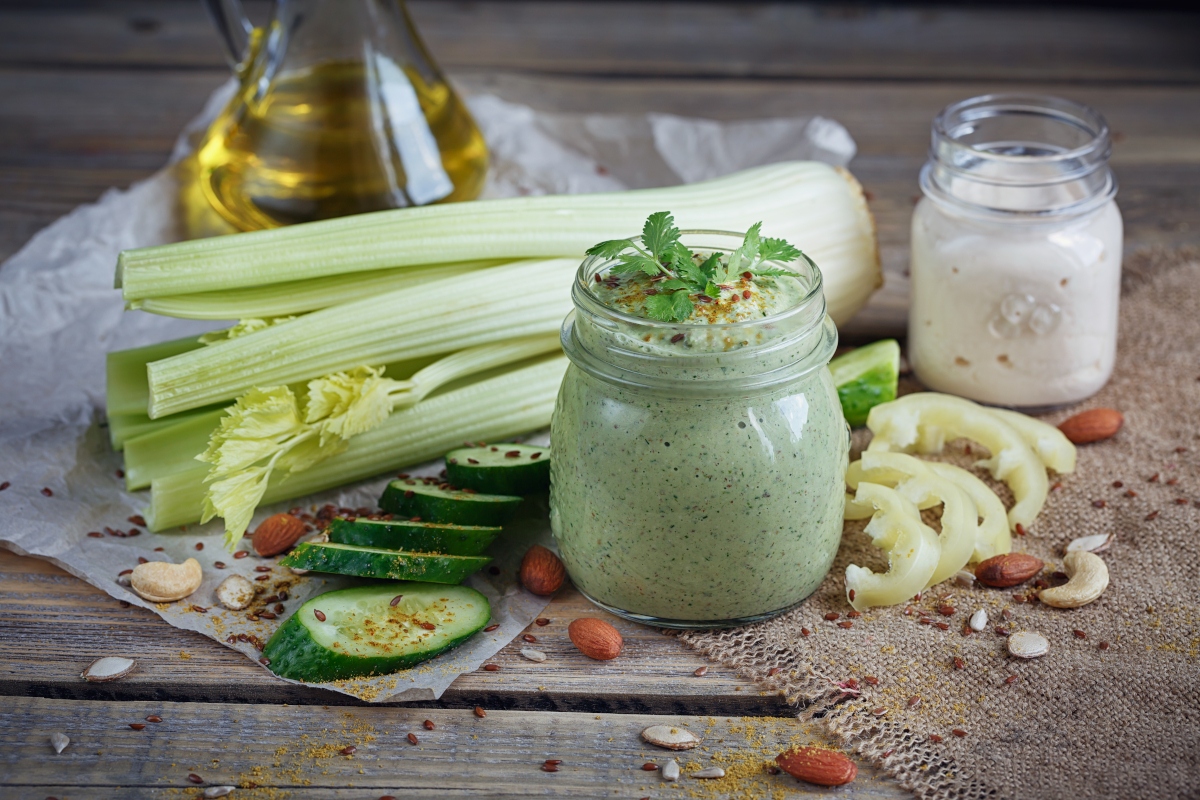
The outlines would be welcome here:
<svg viewBox="0 0 1200 800">
<path fill-rule="evenodd" d="M 545 427 L 566 371 L 565 356 L 544 356 L 528 366 L 470 383 L 392 414 L 350 440 L 347 450 L 313 468 L 272 479 L 263 503 L 278 503 L 416 464 L 444 455 L 464 440 L 498 440 Z M 145 518 L 151 530 L 200 518 L 205 467 L 155 479 Z"/>
</svg>

